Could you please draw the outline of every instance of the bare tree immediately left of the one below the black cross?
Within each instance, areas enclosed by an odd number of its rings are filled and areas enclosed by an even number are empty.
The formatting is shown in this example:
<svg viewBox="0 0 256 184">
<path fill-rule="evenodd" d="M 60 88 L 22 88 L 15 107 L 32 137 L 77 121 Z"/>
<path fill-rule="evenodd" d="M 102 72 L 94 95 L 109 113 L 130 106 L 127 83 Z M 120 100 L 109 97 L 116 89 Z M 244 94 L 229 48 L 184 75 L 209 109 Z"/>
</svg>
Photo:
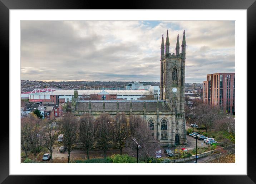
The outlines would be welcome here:
<svg viewBox="0 0 256 184">
<path fill-rule="evenodd" d="M 79 139 L 89 159 L 89 149 L 92 148 L 95 140 L 95 119 L 89 113 L 84 114 L 79 120 Z"/>
</svg>

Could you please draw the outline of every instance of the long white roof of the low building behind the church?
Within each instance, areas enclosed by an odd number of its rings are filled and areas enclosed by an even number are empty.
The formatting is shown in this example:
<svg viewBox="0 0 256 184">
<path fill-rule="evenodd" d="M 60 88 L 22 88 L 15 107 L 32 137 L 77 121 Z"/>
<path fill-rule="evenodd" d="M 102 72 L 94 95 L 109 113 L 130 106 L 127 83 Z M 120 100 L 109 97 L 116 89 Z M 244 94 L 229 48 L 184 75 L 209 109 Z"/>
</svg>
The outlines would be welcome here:
<svg viewBox="0 0 256 184">
<path fill-rule="evenodd" d="M 90 94 L 101 94 L 103 90 L 77 90 L 78 95 L 90 95 Z M 104 90 L 109 94 L 117 94 L 117 95 L 149 95 L 152 94 L 147 90 Z M 56 90 L 53 92 L 45 93 L 48 95 L 73 95 L 74 90 Z"/>
</svg>

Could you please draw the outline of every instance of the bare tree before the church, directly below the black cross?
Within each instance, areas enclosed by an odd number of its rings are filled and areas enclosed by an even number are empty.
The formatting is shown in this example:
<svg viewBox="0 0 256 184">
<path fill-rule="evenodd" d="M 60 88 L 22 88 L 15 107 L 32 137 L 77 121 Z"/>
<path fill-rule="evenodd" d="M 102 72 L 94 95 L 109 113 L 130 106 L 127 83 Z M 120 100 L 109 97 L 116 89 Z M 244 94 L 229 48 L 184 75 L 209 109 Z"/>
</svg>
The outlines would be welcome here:
<svg viewBox="0 0 256 184">
<path fill-rule="evenodd" d="M 104 152 L 104 158 L 106 158 L 106 152 L 111 146 L 112 138 L 112 129 L 111 122 L 113 119 L 109 114 L 103 113 L 96 119 L 97 127 L 97 146 L 100 150 Z"/>
</svg>

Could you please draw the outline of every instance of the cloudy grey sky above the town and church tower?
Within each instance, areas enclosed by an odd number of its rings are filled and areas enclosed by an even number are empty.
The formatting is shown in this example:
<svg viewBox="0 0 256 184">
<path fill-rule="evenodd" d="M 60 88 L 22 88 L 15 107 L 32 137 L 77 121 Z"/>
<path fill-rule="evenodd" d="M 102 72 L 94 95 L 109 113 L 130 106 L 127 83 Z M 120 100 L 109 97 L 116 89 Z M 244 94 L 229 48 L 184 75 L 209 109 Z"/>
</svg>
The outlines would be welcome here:
<svg viewBox="0 0 256 184">
<path fill-rule="evenodd" d="M 167 29 L 171 53 L 186 32 L 185 82 L 235 72 L 235 21 L 21 21 L 21 80 L 160 81 Z"/>
</svg>

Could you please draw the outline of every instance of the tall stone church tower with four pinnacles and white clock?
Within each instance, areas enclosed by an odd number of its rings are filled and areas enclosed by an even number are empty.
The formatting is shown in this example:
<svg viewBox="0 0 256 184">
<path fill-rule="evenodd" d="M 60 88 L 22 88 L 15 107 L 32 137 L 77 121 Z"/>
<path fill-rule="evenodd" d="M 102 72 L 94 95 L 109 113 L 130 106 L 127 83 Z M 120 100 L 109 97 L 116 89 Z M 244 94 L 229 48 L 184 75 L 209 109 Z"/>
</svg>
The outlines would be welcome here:
<svg viewBox="0 0 256 184">
<path fill-rule="evenodd" d="M 166 100 L 172 112 L 171 139 L 185 142 L 186 129 L 184 118 L 184 83 L 186 63 L 186 37 L 183 31 L 181 53 L 179 52 L 179 35 L 177 36 L 176 53 L 170 53 L 169 34 L 167 30 L 165 53 L 164 38 L 161 44 L 161 99 Z M 178 136 L 177 136 L 178 134 Z"/>
</svg>

